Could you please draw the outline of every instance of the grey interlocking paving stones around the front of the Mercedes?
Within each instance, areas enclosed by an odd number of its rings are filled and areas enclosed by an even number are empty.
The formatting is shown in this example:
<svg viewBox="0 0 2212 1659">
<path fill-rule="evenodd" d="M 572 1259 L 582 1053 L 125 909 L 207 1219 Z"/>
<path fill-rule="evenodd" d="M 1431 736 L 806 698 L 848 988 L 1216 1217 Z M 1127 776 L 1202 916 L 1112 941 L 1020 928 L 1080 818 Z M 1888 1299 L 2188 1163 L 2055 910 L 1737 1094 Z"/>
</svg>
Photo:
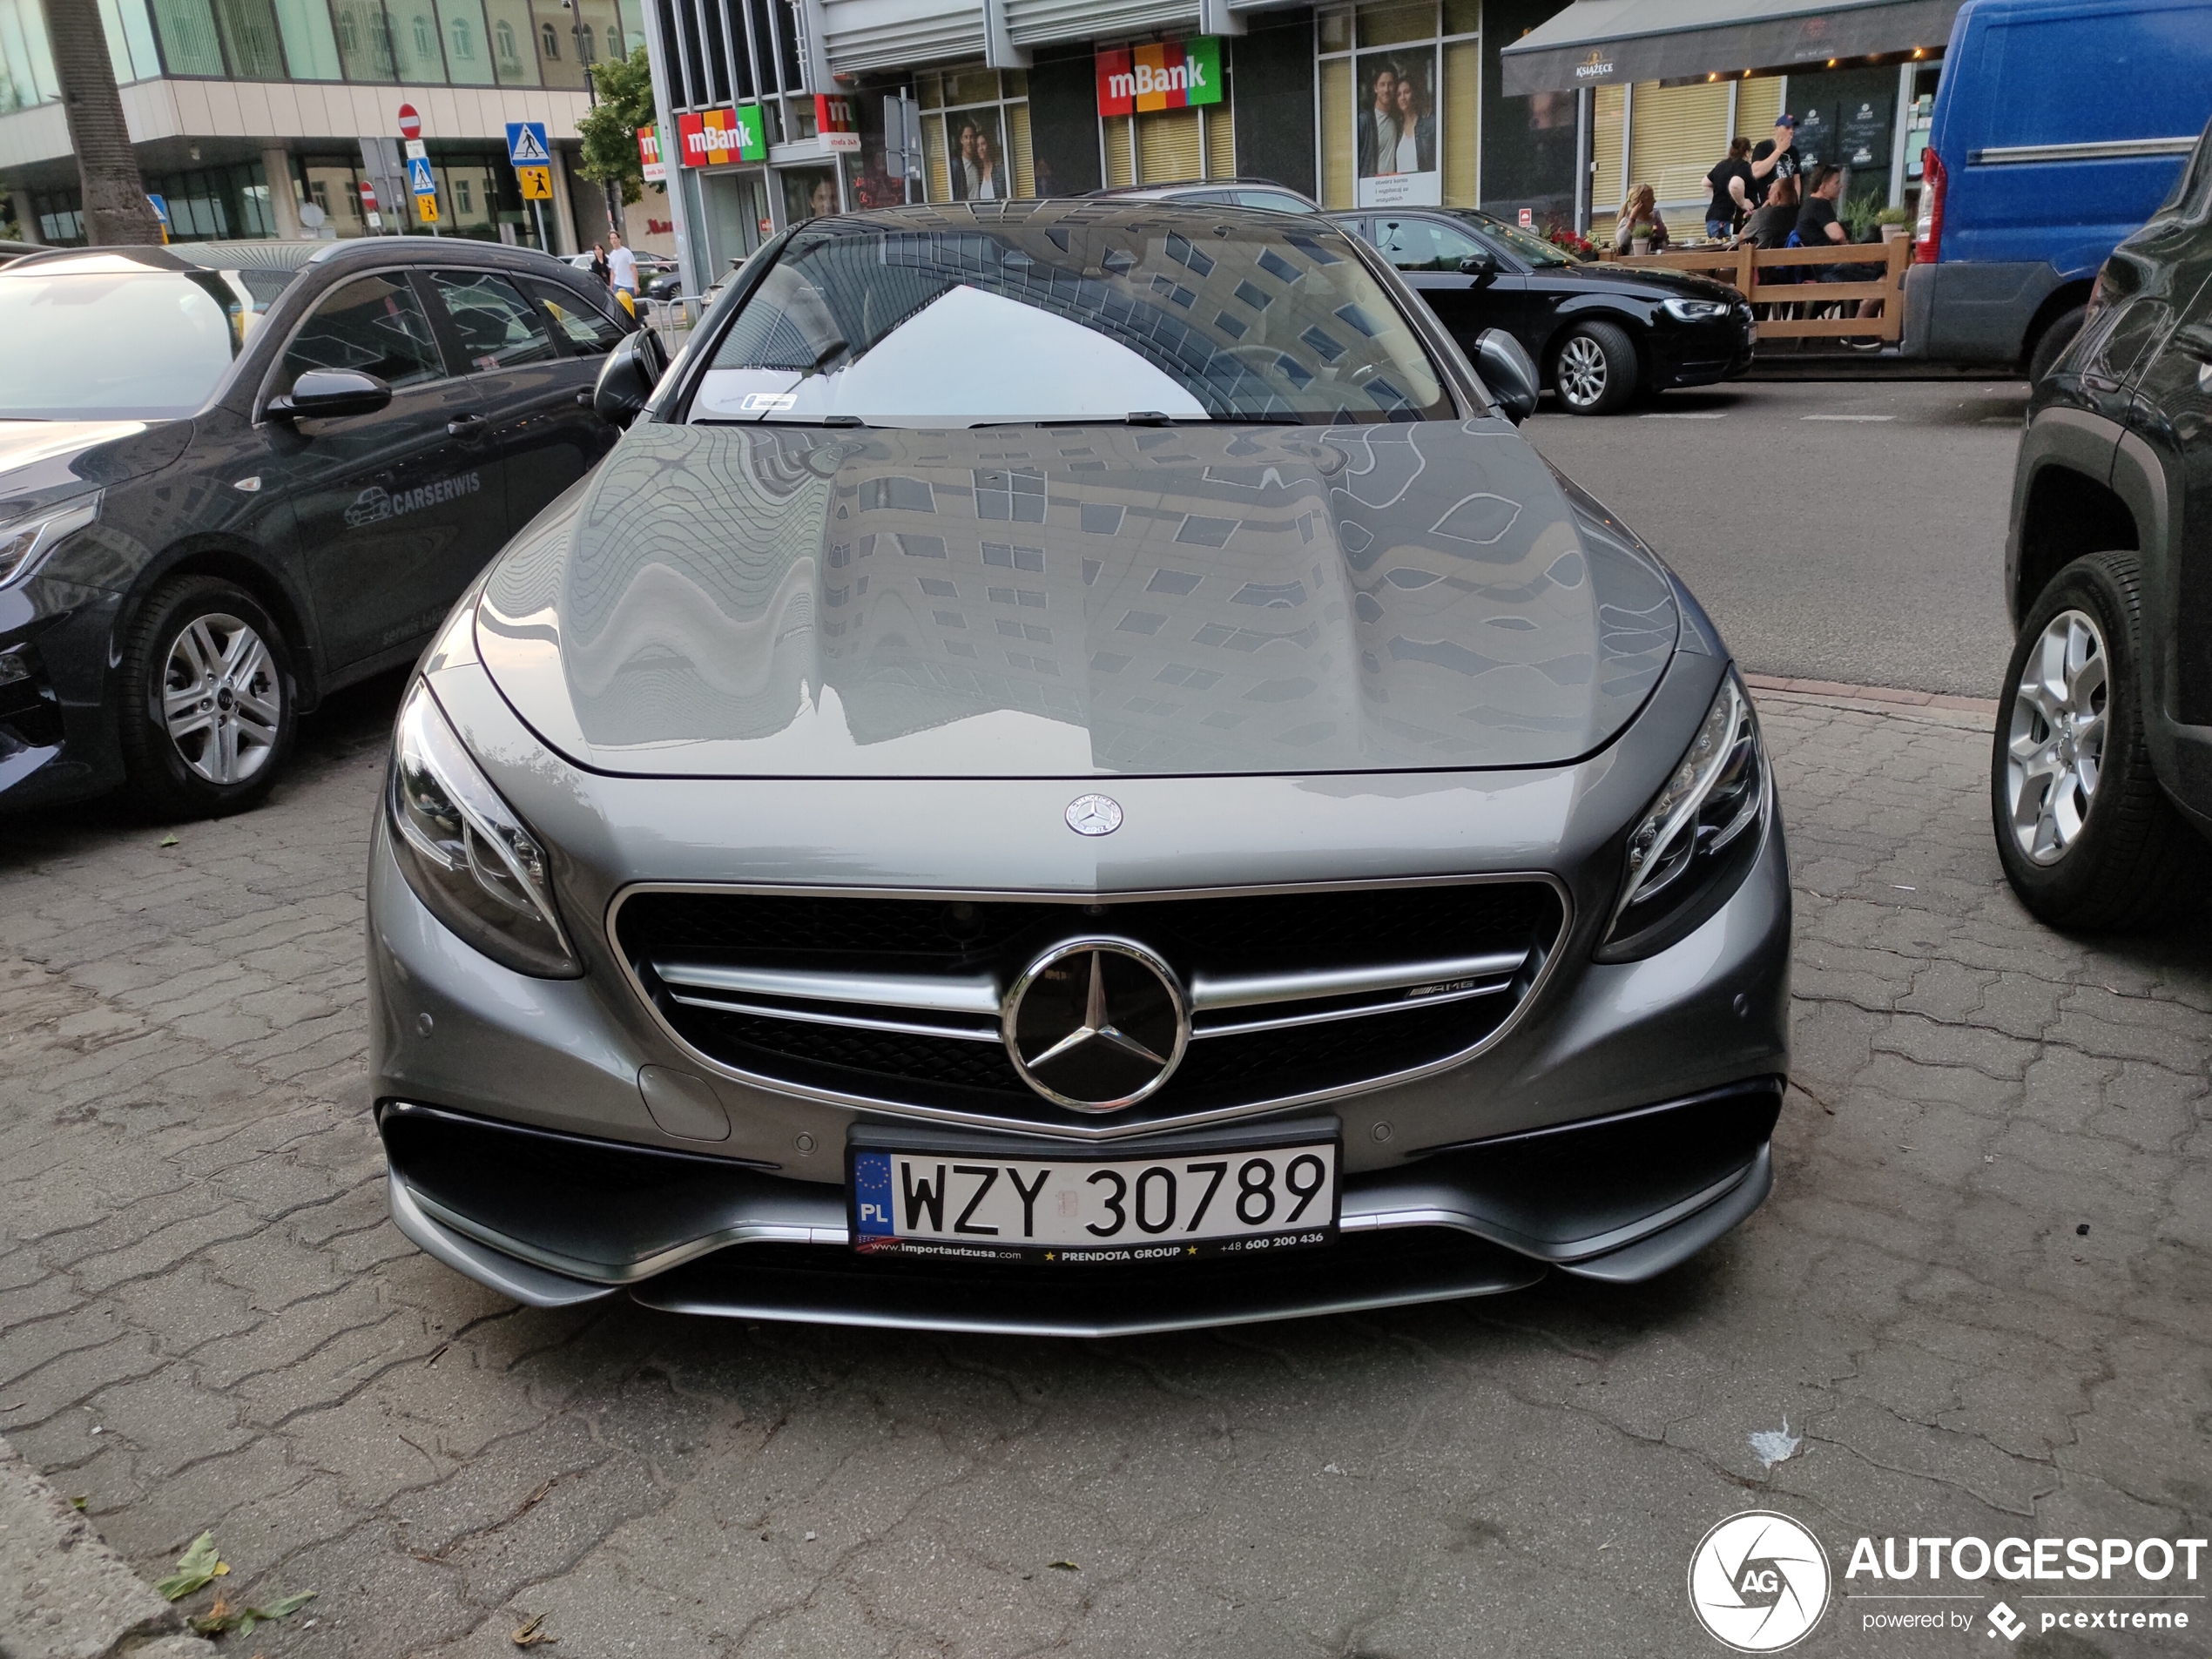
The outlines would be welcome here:
<svg viewBox="0 0 2212 1659">
<path fill-rule="evenodd" d="M 239 1655 L 1694 1655 L 1739 1509 L 2205 1533 L 2203 929 L 2031 925 L 1980 717 L 1763 695 L 1798 1088 L 1750 1225 L 1630 1290 L 1046 1343 L 529 1312 L 416 1254 L 363 1086 L 392 701 L 177 845 L 0 832 L 0 1431 L 142 1571 L 212 1526 L 228 1595 L 319 1590 Z M 1803 1650 L 1940 1646 L 1984 1641 L 1845 1601 Z"/>
</svg>

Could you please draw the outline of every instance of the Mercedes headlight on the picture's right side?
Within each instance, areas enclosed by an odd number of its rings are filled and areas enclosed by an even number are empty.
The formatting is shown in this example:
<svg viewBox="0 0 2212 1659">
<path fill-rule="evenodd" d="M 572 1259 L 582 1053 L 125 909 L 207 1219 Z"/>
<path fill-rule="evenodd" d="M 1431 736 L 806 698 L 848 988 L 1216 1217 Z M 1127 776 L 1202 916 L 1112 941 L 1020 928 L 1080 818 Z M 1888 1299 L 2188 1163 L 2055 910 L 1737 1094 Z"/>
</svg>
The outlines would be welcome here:
<svg viewBox="0 0 2212 1659">
<path fill-rule="evenodd" d="M 1774 799 L 1752 697 L 1730 668 L 1666 787 L 1628 836 L 1599 960 L 1661 951 L 1721 907 L 1759 854 Z"/>
</svg>

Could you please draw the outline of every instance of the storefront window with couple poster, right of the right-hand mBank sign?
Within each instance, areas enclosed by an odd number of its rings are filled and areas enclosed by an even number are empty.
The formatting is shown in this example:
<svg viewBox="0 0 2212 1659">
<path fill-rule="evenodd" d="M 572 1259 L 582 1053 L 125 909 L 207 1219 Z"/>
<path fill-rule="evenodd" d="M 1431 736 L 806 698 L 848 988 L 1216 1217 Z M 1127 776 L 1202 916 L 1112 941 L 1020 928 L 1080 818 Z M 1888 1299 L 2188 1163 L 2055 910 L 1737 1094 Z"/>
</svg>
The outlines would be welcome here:
<svg viewBox="0 0 2212 1659">
<path fill-rule="evenodd" d="M 1478 18 L 1478 0 L 1318 15 L 1325 206 L 1475 206 Z"/>
</svg>

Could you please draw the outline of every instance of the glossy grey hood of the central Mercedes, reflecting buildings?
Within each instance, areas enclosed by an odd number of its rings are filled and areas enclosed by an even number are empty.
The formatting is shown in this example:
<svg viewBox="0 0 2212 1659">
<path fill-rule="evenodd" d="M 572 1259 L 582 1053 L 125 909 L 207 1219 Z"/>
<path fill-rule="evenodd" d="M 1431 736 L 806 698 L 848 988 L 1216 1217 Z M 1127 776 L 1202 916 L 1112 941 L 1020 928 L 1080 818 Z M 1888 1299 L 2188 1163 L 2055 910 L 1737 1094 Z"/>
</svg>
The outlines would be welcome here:
<svg viewBox="0 0 2212 1659">
<path fill-rule="evenodd" d="M 1588 754 L 1679 626 L 1504 420 L 641 425 L 476 648 L 602 772 L 1312 774 Z"/>
</svg>

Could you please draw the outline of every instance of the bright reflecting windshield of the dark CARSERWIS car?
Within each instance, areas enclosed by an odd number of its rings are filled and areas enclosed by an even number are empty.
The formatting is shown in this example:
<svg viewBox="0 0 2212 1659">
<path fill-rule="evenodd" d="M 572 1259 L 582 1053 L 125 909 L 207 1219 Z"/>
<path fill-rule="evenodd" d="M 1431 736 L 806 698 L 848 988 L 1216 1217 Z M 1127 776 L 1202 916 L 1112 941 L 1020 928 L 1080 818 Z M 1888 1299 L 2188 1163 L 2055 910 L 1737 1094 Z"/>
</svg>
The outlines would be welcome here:
<svg viewBox="0 0 2212 1659">
<path fill-rule="evenodd" d="M 159 420 L 208 403 L 250 296 L 217 272 L 0 272 L 0 418 Z"/>
</svg>

